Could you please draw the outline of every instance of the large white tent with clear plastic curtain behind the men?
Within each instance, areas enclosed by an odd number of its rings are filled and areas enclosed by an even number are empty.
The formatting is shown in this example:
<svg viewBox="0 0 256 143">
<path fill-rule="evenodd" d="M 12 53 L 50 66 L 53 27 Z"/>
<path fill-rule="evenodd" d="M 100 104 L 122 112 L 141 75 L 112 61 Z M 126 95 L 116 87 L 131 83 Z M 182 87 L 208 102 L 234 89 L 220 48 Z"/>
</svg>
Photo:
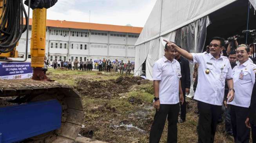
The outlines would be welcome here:
<svg viewBox="0 0 256 143">
<path fill-rule="evenodd" d="M 249 1 L 256 8 L 256 0 L 157 0 L 135 44 L 134 75 L 144 72 L 152 80 L 153 64 L 164 53 L 163 39 L 178 42 L 189 52 L 202 52 L 211 23 L 209 14 L 238 1 L 238 6 L 245 4 L 245 10 Z"/>
</svg>

